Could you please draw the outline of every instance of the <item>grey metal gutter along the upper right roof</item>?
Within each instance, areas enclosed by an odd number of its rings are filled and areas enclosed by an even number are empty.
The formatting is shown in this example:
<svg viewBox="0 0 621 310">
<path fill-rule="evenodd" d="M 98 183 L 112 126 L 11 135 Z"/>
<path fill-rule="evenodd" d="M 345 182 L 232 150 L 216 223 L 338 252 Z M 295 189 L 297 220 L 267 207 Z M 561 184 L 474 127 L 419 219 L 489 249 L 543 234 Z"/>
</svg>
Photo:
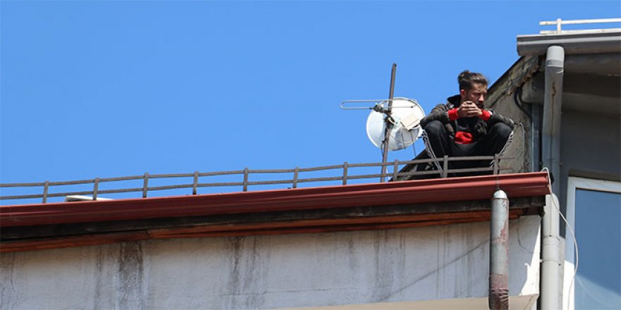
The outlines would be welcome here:
<svg viewBox="0 0 621 310">
<path fill-rule="evenodd" d="M 619 53 L 621 32 L 521 35 L 517 37 L 517 54 L 545 55 L 553 45 L 562 46 L 566 54 Z"/>
</svg>

